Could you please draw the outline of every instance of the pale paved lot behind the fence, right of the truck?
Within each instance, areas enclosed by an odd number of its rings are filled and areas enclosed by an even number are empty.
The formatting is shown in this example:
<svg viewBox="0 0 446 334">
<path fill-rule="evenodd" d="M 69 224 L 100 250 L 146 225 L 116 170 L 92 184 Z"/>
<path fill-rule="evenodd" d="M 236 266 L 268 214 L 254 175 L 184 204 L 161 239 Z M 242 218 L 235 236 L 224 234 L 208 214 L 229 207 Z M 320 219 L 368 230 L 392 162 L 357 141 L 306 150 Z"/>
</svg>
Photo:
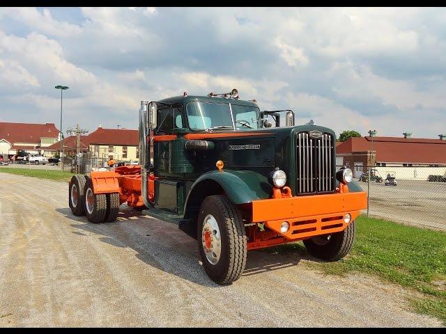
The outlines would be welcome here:
<svg viewBox="0 0 446 334">
<path fill-rule="evenodd" d="M 364 191 L 367 183 L 359 182 Z M 397 180 L 370 183 L 369 214 L 408 225 L 446 230 L 446 182 Z"/>
</svg>

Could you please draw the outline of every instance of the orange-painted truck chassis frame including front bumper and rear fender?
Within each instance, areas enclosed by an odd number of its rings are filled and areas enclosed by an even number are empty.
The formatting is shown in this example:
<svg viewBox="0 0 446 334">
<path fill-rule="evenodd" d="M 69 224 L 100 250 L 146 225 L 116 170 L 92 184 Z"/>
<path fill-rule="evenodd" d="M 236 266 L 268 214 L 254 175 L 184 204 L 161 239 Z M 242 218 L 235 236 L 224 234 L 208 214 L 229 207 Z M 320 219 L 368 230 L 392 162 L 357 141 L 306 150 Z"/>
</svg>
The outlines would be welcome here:
<svg viewBox="0 0 446 334">
<path fill-rule="evenodd" d="M 141 196 L 141 166 L 117 167 L 114 171 L 91 172 L 94 193 L 119 193 L 120 203 L 143 207 Z M 154 198 L 153 181 L 148 177 L 148 197 Z M 272 198 L 253 200 L 248 205 L 251 223 L 247 226 L 247 248 L 258 249 L 287 242 L 308 239 L 316 235 L 340 232 L 347 227 L 344 216 L 351 214 L 353 221 L 361 209 L 367 208 L 364 191 L 350 193 L 346 184 L 339 184 L 336 193 L 313 196 L 292 196 L 291 189 L 274 188 Z M 290 228 L 280 232 L 286 221 Z M 268 230 L 261 230 L 266 226 Z"/>
</svg>

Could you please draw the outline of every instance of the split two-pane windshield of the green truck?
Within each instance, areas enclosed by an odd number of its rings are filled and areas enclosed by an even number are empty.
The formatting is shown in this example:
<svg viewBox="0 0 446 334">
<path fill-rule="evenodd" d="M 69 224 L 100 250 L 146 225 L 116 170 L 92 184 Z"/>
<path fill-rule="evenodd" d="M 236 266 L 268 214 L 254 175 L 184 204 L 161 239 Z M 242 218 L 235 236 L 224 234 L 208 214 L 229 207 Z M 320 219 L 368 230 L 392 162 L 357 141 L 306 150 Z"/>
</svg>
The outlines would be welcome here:
<svg viewBox="0 0 446 334">
<path fill-rule="evenodd" d="M 232 109 L 232 117 L 231 117 Z M 187 120 L 193 130 L 258 129 L 259 108 L 236 104 L 190 102 L 186 107 Z"/>
</svg>

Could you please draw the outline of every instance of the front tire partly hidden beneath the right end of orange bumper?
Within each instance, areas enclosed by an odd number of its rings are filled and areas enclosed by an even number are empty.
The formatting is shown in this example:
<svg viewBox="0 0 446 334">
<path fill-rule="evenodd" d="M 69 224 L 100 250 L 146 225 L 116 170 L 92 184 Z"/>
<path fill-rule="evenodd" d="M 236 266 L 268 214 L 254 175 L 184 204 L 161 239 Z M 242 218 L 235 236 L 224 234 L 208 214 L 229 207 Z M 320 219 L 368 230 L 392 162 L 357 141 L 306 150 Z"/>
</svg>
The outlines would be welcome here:
<svg viewBox="0 0 446 334">
<path fill-rule="evenodd" d="M 344 231 L 312 237 L 303 242 L 308 252 L 314 257 L 337 261 L 350 252 L 354 239 L 355 221 L 352 221 Z"/>
</svg>

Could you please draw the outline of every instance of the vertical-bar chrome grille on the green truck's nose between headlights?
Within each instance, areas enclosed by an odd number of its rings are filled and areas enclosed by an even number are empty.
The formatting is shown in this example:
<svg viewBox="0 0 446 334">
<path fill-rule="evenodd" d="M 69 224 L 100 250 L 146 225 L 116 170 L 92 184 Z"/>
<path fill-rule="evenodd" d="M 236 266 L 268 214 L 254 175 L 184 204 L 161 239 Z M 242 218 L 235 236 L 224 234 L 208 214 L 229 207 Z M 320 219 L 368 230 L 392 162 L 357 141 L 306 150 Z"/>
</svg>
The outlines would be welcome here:
<svg viewBox="0 0 446 334">
<path fill-rule="evenodd" d="M 307 132 L 296 134 L 298 193 L 334 191 L 334 141 L 331 134 L 312 138 Z"/>
</svg>

